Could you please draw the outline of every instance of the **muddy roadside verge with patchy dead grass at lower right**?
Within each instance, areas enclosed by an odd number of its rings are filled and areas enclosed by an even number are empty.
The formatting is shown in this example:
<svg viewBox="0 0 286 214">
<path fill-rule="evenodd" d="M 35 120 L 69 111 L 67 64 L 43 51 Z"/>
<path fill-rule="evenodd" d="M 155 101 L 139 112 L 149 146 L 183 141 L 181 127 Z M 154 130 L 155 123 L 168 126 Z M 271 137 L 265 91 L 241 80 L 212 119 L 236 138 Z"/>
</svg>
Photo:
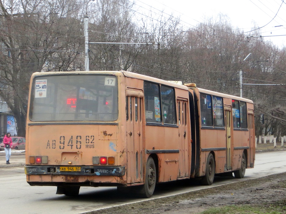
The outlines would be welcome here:
<svg viewBox="0 0 286 214">
<path fill-rule="evenodd" d="M 251 207 L 260 206 L 260 208 L 279 206 L 282 207 L 282 211 L 271 213 L 286 213 L 286 173 L 93 211 L 89 214 L 190 214 L 229 205 L 250 205 Z"/>
</svg>

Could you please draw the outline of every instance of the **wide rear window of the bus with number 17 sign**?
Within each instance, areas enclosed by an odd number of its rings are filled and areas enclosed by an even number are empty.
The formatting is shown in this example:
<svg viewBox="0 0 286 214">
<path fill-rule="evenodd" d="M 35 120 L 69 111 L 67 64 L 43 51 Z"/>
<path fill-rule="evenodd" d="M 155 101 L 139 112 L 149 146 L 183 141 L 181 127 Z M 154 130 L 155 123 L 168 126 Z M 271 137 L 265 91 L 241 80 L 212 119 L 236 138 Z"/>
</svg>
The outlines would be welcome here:
<svg viewBox="0 0 286 214">
<path fill-rule="evenodd" d="M 33 80 L 32 121 L 112 121 L 118 117 L 116 76 L 56 75 Z"/>
</svg>

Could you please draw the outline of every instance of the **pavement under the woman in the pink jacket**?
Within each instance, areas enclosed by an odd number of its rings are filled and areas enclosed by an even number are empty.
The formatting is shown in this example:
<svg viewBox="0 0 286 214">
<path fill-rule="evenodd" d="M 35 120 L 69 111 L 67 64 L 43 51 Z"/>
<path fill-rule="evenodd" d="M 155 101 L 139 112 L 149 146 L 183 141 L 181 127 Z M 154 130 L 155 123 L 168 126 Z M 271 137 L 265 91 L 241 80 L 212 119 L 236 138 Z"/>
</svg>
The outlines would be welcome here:
<svg viewBox="0 0 286 214">
<path fill-rule="evenodd" d="M 0 168 L 3 167 L 15 167 L 15 166 L 25 166 L 25 152 L 17 153 L 11 152 L 10 164 L 6 164 L 6 155 L 0 153 Z"/>
</svg>

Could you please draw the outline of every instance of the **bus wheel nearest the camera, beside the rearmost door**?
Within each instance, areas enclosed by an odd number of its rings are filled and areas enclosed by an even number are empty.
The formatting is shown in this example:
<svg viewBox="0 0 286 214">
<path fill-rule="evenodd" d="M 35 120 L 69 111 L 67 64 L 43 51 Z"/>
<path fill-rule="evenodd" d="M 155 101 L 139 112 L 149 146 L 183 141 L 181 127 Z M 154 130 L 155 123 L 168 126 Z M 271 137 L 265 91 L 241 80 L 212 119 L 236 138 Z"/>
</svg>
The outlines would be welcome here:
<svg viewBox="0 0 286 214">
<path fill-rule="evenodd" d="M 139 191 L 142 197 L 151 197 L 156 186 L 156 166 L 153 158 L 149 157 L 146 164 L 145 182 Z"/>
</svg>

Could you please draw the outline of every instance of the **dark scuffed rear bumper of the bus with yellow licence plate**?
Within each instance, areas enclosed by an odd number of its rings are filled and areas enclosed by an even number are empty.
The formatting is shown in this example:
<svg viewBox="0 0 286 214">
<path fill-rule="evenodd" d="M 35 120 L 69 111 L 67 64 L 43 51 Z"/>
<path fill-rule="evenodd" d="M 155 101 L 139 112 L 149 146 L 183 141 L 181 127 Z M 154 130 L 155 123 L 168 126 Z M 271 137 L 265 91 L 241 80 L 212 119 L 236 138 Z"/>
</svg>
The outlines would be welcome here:
<svg viewBox="0 0 286 214">
<path fill-rule="evenodd" d="M 55 166 L 25 165 L 26 175 L 123 176 L 125 166 Z"/>
</svg>

